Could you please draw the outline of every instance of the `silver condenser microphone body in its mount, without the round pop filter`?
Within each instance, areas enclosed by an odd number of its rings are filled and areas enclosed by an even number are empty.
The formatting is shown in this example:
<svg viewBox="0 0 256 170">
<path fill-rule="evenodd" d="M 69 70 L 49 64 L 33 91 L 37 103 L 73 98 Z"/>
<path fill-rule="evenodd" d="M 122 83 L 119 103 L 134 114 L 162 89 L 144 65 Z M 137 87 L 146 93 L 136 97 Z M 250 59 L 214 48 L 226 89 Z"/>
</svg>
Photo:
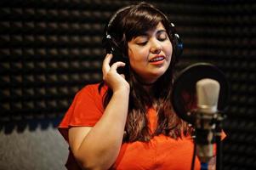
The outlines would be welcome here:
<svg viewBox="0 0 256 170">
<path fill-rule="evenodd" d="M 202 162 L 213 157 L 215 122 L 218 114 L 219 82 L 204 78 L 196 82 L 196 155 Z"/>
</svg>

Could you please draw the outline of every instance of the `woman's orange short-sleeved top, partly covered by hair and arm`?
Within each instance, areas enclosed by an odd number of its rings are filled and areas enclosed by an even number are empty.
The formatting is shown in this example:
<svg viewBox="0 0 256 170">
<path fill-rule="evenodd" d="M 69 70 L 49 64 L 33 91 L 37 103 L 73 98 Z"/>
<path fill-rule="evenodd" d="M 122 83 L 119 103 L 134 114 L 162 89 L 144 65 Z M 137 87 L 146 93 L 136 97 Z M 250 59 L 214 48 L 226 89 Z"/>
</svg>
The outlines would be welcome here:
<svg viewBox="0 0 256 170">
<path fill-rule="evenodd" d="M 94 127 L 104 112 L 102 105 L 103 94 L 107 87 L 103 87 L 99 94 L 99 84 L 88 85 L 80 90 L 73 100 L 69 110 L 60 122 L 59 130 L 68 142 L 69 127 Z M 156 128 L 156 111 L 148 109 L 147 116 L 151 130 Z M 172 139 L 158 135 L 150 142 L 123 143 L 117 160 L 111 169 L 191 169 L 193 156 L 193 139 L 183 137 Z M 68 169 L 79 169 L 72 153 L 65 165 Z M 196 157 L 195 169 L 200 169 L 200 161 Z"/>
</svg>

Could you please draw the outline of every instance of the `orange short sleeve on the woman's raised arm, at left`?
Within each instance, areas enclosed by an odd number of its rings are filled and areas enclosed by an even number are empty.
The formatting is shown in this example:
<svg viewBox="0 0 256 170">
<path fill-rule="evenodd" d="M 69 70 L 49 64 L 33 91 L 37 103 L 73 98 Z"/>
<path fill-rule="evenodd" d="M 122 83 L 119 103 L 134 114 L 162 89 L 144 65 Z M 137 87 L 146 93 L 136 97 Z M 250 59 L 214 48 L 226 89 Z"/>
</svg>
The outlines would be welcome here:
<svg viewBox="0 0 256 170">
<path fill-rule="evenodd" d="M 70 108 L 59 125 L 59 131 L 66 141 L 69 127 L 94 127 L 103 114 L 103 95 L 106 87 L 99 92 L 99 84 L 82 88 L 73 99 Z"/>
</svg>

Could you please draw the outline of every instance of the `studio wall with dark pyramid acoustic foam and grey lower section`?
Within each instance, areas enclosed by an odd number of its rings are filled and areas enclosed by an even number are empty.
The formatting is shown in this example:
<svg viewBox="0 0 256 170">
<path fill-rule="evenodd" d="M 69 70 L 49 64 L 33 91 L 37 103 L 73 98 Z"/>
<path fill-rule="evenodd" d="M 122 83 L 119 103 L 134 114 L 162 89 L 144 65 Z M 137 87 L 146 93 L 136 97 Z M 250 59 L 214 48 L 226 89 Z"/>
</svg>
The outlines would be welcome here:
<svg viewBox="0 0 256 170">
<path fill-rule="evenodd" d="M 177 71 L 209 62 L 225 72 L 224 169 L 256 168 L 256 3 L 147 1 L 173 20 L 185 44 Z M 65 169 L 57 131 L 77 90 L 100 82 L 102 31 L 113 11 L 134 1 L 0 2 L 0 170 Z"/>
</svg>

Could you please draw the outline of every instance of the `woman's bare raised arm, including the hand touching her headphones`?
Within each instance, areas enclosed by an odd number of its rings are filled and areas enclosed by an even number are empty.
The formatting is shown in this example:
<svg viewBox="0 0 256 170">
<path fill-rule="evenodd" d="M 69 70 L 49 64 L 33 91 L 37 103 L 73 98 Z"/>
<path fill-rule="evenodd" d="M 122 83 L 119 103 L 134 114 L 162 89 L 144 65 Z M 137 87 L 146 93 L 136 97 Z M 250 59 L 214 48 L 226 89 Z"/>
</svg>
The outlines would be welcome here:
<svg viewBox="0 0 256 170">
<path fill-rule="evenodd" d="M 103 116 L 94 127 L 71 127 L 69 143 L 81 167 L 86 169 L 107 169 L 116 161 L 128 113 L 129 85 L 117 73 L 121 62 L 109 65 L 111 55 L 103 62 L 103 78 L 113 90 L 113 96 Z"/>
</svg>

